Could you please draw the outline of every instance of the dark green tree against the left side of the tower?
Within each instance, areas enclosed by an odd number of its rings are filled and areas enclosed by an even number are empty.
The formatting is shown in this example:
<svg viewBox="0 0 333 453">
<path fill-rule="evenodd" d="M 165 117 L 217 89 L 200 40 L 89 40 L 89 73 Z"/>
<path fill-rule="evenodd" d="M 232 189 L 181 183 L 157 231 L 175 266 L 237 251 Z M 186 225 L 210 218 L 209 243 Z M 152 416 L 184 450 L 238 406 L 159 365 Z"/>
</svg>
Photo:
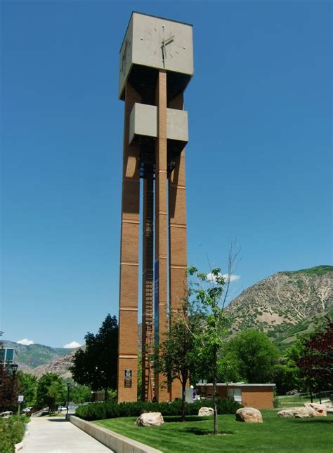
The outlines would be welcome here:
<svg viewBox="0 0 333 453">
<path fill-rule="evenodd" d="M 79 349 L 72 360 L 70 371 L 74 381 L 93 391 L 117 387 L 118 324 L 115 316 L 108 314 L 98 333 L 88 332 L 86 345 Z"/>
</svg>

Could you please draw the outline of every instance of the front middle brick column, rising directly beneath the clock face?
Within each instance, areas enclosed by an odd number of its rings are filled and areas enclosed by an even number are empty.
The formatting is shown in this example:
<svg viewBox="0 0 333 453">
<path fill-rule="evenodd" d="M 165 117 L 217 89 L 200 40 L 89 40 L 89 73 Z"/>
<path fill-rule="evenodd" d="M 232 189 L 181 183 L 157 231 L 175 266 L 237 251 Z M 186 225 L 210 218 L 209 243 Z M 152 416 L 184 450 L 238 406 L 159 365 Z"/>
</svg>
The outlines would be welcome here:
<svg viewBox="0 0 333 453">
<path fill-rule="evenodd" d="M 167 162 L 166 162 L 166 71 L 159 70 L 156 90 L 157 140 L 155 151 L 155 342 L 165 338 L 167 322 Z M 158 275 L 158 283 L 156 281 Z M 158 294 L 158 301 L 156 295 Z M 157 313 L 158 311 L 158 313 Z M 158 401 L 169 401 L 166 377 L 155 374 Z"/>
</svg>

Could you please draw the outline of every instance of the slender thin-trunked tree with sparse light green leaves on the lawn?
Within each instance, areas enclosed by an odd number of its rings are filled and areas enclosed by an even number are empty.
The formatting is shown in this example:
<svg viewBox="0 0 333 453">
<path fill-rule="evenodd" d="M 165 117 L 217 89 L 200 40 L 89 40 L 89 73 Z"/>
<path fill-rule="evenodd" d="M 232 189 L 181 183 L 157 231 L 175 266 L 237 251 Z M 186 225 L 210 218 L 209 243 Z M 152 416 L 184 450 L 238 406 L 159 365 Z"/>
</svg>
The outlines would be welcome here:
<svg viewBox="0 0 333 453">
<path fill-rule="evenodd" d="M 197 268 L 188 268 L 188 318 L 202 318 L 200 329 L 193 331 L 184 317 L 188 331 L 195 339 L 199 357 L 204 363 L 211 363 L 209 374 L 213 380 L 214 435 L 218 433 L 217 417 L 217 377 L 218 363 L 222 362 L 221 350 L 226 343 L 230 329 L 230 317 L 226 313 L 226 302 L 230 279 L 240 255 L 240 248 L 231 243 L 228 255 L 228 272 L 224 275 L 220 268 L 211 269 L 210 273 L 200 273 Z"/>
</svg>

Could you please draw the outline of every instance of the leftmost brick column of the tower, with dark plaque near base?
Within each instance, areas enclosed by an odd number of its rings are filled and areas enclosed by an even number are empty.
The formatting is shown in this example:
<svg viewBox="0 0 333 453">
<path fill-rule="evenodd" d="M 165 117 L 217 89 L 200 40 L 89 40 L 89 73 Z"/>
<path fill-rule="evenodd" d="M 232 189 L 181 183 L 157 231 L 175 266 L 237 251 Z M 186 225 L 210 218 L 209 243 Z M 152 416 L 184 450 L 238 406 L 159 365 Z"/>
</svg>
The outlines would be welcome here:
<svg viewBox="0 0 333 453">
<path fill-rule="evenodd" d="M 138 382 L 138 245 L 139 245 L 139 148 L 129 145 L 129 116 L 141 97 L 127 82 L 124 114 L 124 163 L 122 181 L 122 232 L 119 290 L 118 401 L 137 400 Z M 125 387 L 125 370 L 131 386 Z M 127 381 L 129 382 L 129 381 Z"/>
</svg>

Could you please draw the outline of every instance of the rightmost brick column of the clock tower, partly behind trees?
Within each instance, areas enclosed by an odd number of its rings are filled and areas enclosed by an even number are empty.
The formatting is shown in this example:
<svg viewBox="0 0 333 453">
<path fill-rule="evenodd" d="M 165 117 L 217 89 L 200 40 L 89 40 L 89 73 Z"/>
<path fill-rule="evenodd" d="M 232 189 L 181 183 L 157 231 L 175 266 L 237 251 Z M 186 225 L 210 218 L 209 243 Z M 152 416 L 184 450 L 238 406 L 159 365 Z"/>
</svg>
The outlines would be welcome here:
<svg viewBox="0 0 333 453">
<path fill-rule="evenodd" d="M 169 104 L 171 109 L 183 110 L 183 93 Z M 169 301 L 170 318 L 181 306 L 187 285 L 185 149 L 176 157 L 176 166 L 169 176 Z M 180 398 L 181 382 L 174 380 L 170 399 Z"/>
</svg>

